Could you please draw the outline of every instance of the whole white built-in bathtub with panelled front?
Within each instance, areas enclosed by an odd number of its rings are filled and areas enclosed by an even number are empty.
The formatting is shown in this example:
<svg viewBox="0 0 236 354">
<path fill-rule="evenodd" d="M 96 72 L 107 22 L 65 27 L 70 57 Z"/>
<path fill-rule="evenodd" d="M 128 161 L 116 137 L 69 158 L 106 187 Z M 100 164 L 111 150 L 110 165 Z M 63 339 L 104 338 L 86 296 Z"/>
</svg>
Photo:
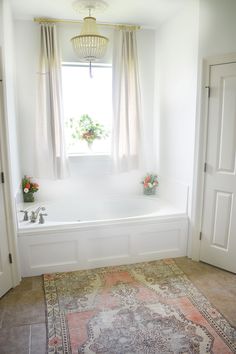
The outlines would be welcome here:
<svg viewBox="0 0 236 354">
<path fill-rule="evenodd" d="M 19 205 L 46 208 L 45 224 L 22 221 L 22 276 L 185 256 L 188 218 L 156 197 L 57 201 Z"/>
</svg>

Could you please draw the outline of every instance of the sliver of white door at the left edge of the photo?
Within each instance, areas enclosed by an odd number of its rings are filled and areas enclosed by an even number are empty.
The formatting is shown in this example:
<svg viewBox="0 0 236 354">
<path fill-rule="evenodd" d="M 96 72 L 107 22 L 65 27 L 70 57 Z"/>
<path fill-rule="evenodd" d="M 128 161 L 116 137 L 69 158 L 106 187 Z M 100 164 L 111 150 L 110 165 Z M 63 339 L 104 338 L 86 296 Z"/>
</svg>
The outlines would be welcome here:
<svg viewBox="0 0 236 354">
<path fill-rule="evenodd" d="M 0 129 L 3 122 L 2 82 L 0 82 Z M 0 172 L 2 172 L 0 146 Z M 6 230 L 5 203 L 3 197 L 3 183 L 0 181 L 0 297 L 12 288 L 11 265 L 9 263 L 9 248 Z"/>
</svg>

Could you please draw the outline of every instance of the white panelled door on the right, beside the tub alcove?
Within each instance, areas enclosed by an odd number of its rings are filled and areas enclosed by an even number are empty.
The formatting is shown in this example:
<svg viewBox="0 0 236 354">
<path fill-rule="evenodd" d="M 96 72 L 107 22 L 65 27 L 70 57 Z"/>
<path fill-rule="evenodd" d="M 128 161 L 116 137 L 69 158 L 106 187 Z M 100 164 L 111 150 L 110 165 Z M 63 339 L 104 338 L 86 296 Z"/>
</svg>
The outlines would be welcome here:
<svg viewBox="0 0 236 354">
<path fill-rule="evenodd" d="M 236 273 L 236 63 L 210 67 L 200 259 Z"/>
</svg>

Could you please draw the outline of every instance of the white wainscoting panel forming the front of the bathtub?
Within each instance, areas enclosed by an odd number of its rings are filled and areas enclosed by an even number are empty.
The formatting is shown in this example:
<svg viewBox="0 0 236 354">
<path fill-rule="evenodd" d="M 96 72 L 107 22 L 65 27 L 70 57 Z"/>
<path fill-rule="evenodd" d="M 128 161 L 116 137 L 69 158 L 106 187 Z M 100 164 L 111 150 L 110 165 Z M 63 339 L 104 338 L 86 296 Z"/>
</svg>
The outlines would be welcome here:
<svg viewBox="0 0 236 354">
<path fill-rule="evenodd" d="M 188 219 L 115 223 L 19 234 L 22 276 L 185 256 Z"/>
</svg>

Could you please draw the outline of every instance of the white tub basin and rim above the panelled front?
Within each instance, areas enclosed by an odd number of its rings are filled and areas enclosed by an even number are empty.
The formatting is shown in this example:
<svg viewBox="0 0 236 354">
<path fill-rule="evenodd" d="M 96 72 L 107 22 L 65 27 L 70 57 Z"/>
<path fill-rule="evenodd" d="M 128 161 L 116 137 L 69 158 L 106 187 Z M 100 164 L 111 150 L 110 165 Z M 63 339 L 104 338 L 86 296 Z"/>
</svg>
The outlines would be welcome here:
<svg viewBox="0 0 236 354">
<path fill-rule="evenodd" d="M 129 196 L 112 197 L 89 200 L 64 199 L 58 201 L 41 203 L 20 203 L 17 206 L 17 219 L 19 228 L 35 226 L 30 221 L 23 221 L 23 213 L 20 210 L 28 210 L 30 215 L 32 210 L 44 206 L 45 224 L 54 223 L 74 223 L 99 220 L 116 220 L 140 217 L 157 217 L 184 214 L 185 210 L 176 208 L 169 202 L 156 196 Z"/>
</svg>

